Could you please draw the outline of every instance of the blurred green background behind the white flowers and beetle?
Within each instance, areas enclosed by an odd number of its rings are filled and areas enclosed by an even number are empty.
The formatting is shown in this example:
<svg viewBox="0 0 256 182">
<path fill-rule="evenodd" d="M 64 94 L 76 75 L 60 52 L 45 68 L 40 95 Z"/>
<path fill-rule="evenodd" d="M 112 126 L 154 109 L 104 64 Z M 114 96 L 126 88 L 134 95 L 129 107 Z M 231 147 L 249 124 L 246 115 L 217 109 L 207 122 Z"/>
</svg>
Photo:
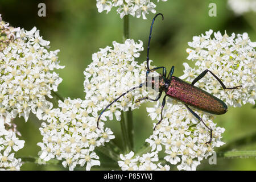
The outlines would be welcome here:
<svg viewBox="0 0 256 182">
<path fill-rule="evenodd" d="M 38 16 L 38 4 L 46 3 L 46 17 Z M 231 11 L 226 1 L 214 1 L 217 5 L 217 16 L 210 17 L 208 0 L 168 0 L 156 3 L 156 12 L 164 15 L 164 21 L 156 21 L 151 41 L 150 59 L 154 65 L 162 65 L 170 69 L 175 65 L 175 76 L 183 75 L 182 63 L 186 60 L 188 42 L 195 35 L 204 34 L 213 29 L 220 30 L 222 34 L 226 30 L 242 34 L 247 32 L 251 41 L 256 42 L 255 13 L 247 13 L 236 16 Z M 3 20 L 10 22 L 11 26 L 24 27 L 31 30 L 36 26 L 44 40 L 51 42 L 51 50 L 60 49 L 59 60 L 65 68 L 57 71 L 63 82 L 59 85 L 59 93 L 64 97 L 84 98 L 83 71 L 92 61 L 92 53 L 99 48 L 112 46 L 112 42 L 122 42 L 123 20 L 113 8 L 110 13 L 98 13 L 95 0 L 0 0 L 0 14 Z M 146 48 L 148 32 L 154 14 L 147 15 L 147 20 L 132 18 L 130 16 L 130 38 L 142 40 Z M 146 51 L 141 53 L 138 59 L 140 63 L 146 60 Z M 143 104 L 133 111 L 135 127 L 135 150 L 144 143 L 152 130 L 152 121 L 147 117 L 146 107 L 151 103 Z M 229 143 L 232 140 L 244 137 L 256 132 L 256 110 L 252 105 L 241 108 L 230 108 L 228 113 L 218 115 L 215 122 L 226 129 L 223 141 Z M 37 156 L 40 147 L 36 143 L 42 140 L 39 133 L 40 121 L 31 114 L 28 122 L 23 118 L 15 119 L 18 130 L 22 133 L 22 139 L 26 140 L 24 148 L 17 156 Z M 114 142 L 122 147 L 120 125 L 116 121 L 106 123 L 115 133 Z M 246 146 L 233 146 L 234 150 L 256 150 L 255 140 Z M 111 162 L 105 156 L 100 155 L 101 162 Z M 22 170 L 64 170 L 60 165 L 39 166 L 34 163 L 23 164 Z M 78 168 L 79 169 L 79 168 Z M 81 169 L 81 168 L 80 168 Z M 92 168 L 97 169 L 97 168 Z M 176 169 L 171 168 L 171 169 Z M 224 159 L 217 158 L 217 165 L 209 165 L 204 160 L 197 168 L 200 170 L 255 170 L 255 158 Z"/>
</svg>

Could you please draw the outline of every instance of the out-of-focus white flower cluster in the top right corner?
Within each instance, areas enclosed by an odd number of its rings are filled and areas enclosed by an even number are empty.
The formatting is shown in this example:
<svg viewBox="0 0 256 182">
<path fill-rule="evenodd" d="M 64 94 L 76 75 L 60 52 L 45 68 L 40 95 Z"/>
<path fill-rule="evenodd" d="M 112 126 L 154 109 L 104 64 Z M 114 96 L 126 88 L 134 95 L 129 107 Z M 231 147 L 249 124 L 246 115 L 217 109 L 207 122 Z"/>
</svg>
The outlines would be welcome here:
<svg viewBox="0 0 256 182">
<path fill-rule="evenodd" d="M 228 6 L 237 15 L 242 15 L 249 11 L 256 12 L 256 0 L 229 0 Z"/>
</svg>

